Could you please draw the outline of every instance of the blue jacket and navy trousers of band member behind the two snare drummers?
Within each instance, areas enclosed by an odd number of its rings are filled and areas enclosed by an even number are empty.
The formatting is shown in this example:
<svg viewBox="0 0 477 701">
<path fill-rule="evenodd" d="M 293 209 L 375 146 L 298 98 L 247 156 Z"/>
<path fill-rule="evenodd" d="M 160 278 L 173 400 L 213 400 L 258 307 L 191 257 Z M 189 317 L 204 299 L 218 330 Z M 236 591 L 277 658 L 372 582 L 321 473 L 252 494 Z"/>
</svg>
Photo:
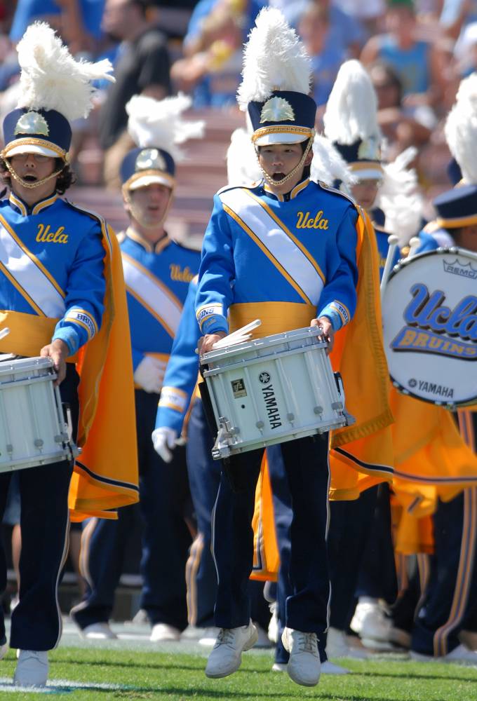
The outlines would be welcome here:
<svg viewBox="0 0 477 701">
<path fill-rule="evenodd" d="M 190 280 L 199 268 L 199 252 L 167 236 L 153 246 L 131 228 L 120 235 L 120 240 L 133 367 L 137 369 L 147 355 L 165 365 L 179 329 Z M 158 400 L 157 393 L 136 386 L 138 510 L 119 510 L 118 521 L 91 519 L 83 531 L 82 559 L 88 590 L 72 611 L 81 628 L 109 620 L 126 543 L 139 513 L 143 524 L 141 608 L 147 611 L 152 625 L 166 623 L 179 630 L 187 625 L 184 567 L 191 543 L 184 521 L 189 511 L 187 469 L 183 447 L 175 449 L 171 464 L 164 463 L 154 450 L 151 434 Z"/>
</svg>

